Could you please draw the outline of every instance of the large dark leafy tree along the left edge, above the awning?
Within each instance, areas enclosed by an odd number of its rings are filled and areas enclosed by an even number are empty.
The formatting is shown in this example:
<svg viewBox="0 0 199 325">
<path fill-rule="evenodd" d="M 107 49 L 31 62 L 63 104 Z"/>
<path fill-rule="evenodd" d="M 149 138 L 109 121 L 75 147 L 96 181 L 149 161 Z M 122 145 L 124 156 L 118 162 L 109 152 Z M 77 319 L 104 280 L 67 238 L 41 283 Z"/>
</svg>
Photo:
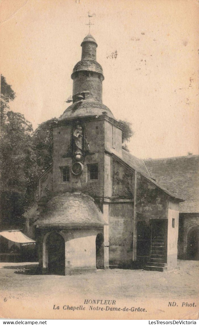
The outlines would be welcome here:
<svg viewBox="0 0 199 325">
<path fill-rule="evenodd" d="M 3 128 L 0 136 L 1 227 L 22 227 L 21 216 L 35 201 L 38 167 L 32 143 L 32 125 L 22 114 L 8 110 L 8 98 L 14 92 L 10 90 L 10 86 L 5 89 L 9 94 L 1 93 L 3 112 Z"/>
</svg>

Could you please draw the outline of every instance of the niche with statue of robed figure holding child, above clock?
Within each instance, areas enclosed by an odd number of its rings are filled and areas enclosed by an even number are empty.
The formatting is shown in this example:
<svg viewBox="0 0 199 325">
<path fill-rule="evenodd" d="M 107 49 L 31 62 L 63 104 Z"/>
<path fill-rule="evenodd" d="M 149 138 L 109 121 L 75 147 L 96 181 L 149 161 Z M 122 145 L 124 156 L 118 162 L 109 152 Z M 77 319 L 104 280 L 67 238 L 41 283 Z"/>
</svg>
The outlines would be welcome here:
<svg viewBox="0 0 199 325">
<path fill-rule="evenodd" d="M 84 163 L 85 155 L 88 152 L 90 152 L 90 147 L 86 140 L 86 127 L 84 124 L 77 122 L 72 127 L 67 154 L 72 157 L 73 162 Z"/>
</svg>

